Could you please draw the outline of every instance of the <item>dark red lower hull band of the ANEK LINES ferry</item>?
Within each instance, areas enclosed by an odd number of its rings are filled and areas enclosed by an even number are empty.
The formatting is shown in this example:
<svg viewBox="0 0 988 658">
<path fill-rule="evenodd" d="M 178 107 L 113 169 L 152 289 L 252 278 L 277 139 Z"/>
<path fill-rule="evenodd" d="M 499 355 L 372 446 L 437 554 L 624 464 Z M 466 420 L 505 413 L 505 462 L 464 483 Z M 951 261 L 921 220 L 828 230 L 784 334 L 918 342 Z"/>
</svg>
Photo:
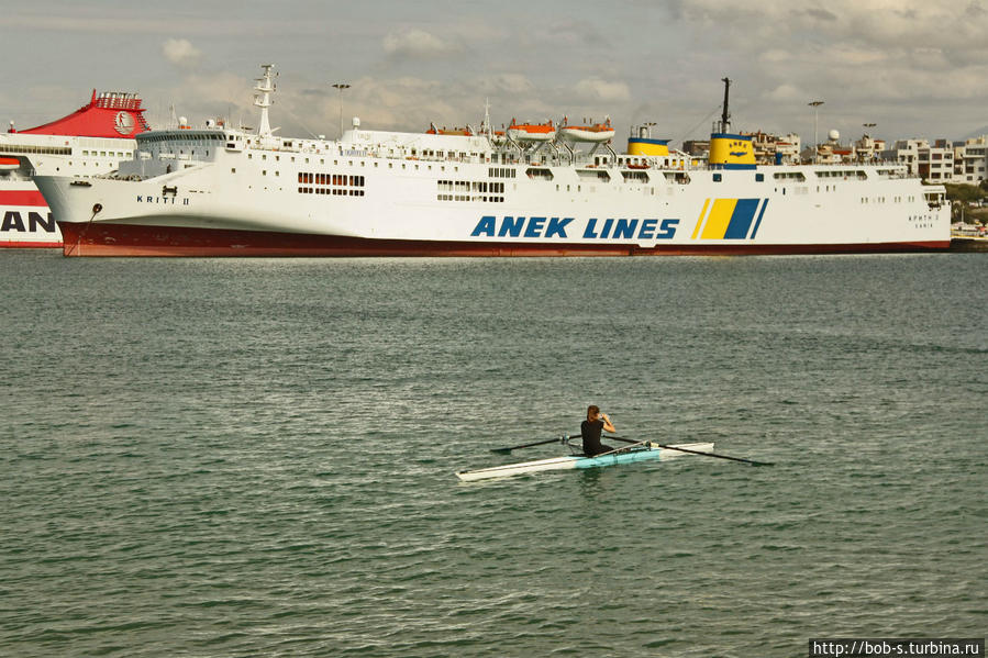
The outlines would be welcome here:
<svg viewBox="0 0 988 658">
<path fill-rule="evenodd" d="M 762 256 L 941 250 L 950 241 L 868 244 L 551 244 L 368 239 L 180 226 L 58 223 L 66 256 Z"/>
</svg>

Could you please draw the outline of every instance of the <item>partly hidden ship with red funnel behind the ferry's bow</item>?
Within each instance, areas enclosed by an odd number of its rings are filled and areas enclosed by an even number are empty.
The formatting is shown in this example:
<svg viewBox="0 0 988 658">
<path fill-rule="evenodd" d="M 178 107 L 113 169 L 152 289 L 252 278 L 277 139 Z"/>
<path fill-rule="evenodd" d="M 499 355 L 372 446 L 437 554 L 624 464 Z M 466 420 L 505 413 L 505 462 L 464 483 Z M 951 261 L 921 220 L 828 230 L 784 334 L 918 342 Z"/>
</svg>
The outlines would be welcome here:
<svg viewBox="0 0 988 658">
<path fill-rule="evenodd" d="M 71 114 L 25 131 L 0 133 L 0 247 L 62 248 L 62 233 L 34 176 L 90 177 L 134 157 L 151 130 L 136 93 L 92 90 Z"/>
</svg>

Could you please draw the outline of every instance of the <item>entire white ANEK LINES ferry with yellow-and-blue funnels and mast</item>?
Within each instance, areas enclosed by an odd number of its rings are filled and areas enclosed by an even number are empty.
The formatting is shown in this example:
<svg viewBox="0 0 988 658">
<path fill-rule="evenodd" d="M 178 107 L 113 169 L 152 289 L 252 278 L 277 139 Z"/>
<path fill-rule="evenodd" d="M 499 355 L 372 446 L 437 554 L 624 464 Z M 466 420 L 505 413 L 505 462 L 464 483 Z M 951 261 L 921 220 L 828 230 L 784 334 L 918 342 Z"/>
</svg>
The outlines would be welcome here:
<svg viewBox="0 0 988 658">
<path fill-rule="evenodd" d="M 706 160 L 608 123 L 512 122 L 337 141 L 210 121 L 137 135 L 95 178 L 40 176 L 68 256 L 573 256 L 942 249 L 942 186 L 898 165 L 755 164 L 726 110 Z M 729 82 L 730 83 L 730 82 Z M 563 127 L 567 130 L 562 130 Z M 444 134 L 456 133 L 456 134 Z M 592 147 L 591 147 L 592 146 Z"/>
</svg>

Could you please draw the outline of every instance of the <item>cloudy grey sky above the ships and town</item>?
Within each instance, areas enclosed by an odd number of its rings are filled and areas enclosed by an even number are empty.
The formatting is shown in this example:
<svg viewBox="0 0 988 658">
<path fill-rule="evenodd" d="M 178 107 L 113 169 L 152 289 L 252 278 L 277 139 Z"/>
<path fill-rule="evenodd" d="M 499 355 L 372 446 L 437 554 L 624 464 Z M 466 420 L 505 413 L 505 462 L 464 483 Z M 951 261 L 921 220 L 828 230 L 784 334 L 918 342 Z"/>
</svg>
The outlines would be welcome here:
<svg viewBox="0 0 988 658">
<path fill-rule="evenodd" d="M 0 119 L 18 127 L 137 91 L 153 125 L 256 125 L 279 71 L 281 134 L 424 131 L 610 115 L 702 138 L 733 80 L 735 130 L 961 140 L 988 132 L 988 0 L 36 0 L 4 3 Z"/>
</svg>

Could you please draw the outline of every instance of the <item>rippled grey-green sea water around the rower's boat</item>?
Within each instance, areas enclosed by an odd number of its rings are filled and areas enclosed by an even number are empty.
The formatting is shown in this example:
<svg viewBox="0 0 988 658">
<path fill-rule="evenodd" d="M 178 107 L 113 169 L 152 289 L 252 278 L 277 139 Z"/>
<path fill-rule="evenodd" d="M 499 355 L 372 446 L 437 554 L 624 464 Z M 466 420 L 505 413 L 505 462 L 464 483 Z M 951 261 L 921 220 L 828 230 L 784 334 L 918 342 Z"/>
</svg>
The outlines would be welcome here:
<svg viewBox="0 0 988 658">
<path fill-rule="evenodd" d="M 0 253 L 0 654 L 984 637 L 985 264 Z M 454 476 L 588 404 L 774 466 Z"/>
</svg>

